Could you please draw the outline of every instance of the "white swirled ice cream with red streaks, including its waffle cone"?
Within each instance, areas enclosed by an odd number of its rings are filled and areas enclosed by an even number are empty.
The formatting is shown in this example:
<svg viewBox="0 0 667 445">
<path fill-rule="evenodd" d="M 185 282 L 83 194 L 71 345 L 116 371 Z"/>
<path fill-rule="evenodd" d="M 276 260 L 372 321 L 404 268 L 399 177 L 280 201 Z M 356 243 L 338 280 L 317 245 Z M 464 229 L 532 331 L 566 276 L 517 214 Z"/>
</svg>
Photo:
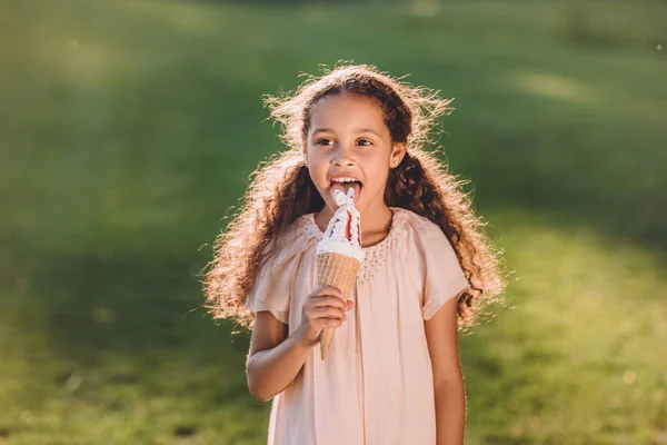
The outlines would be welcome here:
<svg viewBox="0 0 667 445">
<path fill-rule="evenodd" d="M 317 280 L 319 286 L 339 289 L 347 303 L 364 261 L 360 214 L 355 208 L 354 188 L 350 187 L 347 195 L 336 190 L 334 199 L 339 208 L 329 221 L 322 240 L 317 244 Z M 335 332 L 336 328 L 326 328 L 320 335 L 322 359 L 329 352 Z"/>
</svg>

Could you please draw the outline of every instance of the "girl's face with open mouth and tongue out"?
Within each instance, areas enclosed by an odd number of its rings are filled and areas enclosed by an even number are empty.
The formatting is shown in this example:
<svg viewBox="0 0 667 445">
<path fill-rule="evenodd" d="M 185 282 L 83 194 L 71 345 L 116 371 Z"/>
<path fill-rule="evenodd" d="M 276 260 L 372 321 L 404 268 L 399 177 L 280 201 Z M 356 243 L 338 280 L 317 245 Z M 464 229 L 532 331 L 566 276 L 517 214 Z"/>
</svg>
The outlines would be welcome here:
<svg viewBox="0 0 667 445">
<path fill-rule="evenodd" d="M 382 110 L 374 99 L 327 96 L 311 108 L 303 152 L 310 178 L 332 212 L 338 208 L 334 190 L 350 187 L 336 178 L 358 181 L 352 187 L 359 212 L 381 210 L 389 169 L 400 164 L 405 151 L 405 144 L 391 142 Z"/>
</svg>

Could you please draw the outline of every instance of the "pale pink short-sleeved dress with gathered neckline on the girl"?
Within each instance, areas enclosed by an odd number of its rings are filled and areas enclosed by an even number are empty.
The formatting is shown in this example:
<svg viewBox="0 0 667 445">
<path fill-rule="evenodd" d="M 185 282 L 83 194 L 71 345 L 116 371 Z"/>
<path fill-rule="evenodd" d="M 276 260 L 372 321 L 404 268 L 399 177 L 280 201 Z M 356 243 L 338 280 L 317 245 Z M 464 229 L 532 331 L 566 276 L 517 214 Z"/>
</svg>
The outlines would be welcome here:
<svg viewBox="0 0 667 445">
<path fill-rule="evenodd" d="M 336 330 L 329 355 L 315 347 L 292 384 L 273 397 L 269 445 L 436 443 L 434 377 L 424 320 L 469 284 L 440 228 L 391 207 L 389 235 L 365 248 L 349 295 L 355 309 Z M 313 214 L 280 237 L 283 246 L 262 268 L 247 307 L 301 322 L 317 288 Z"/>
</svg>

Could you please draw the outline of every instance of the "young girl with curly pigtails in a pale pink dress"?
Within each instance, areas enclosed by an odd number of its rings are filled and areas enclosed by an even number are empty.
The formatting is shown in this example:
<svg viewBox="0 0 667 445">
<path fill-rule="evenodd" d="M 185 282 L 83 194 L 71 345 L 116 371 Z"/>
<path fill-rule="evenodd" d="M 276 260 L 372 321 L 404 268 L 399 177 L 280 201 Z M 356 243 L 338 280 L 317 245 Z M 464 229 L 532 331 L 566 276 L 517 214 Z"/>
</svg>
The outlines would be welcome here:
<svg viewBox="0 0 667 445">
<path fill-rule="evenodd" d="M 252 328 L 248 385 L 273 399 L 268 443 L 462 444 L 457 330 L 505 278 L 460 182 L 426 151 L 449 101 L 339 66 L 266 103 L 289 149 L 257 171 L 205 283 L 216 317 Z M 340 178 L 359 185 L 365 251 L 347 304 L 317 286 Z"/>
</svg>

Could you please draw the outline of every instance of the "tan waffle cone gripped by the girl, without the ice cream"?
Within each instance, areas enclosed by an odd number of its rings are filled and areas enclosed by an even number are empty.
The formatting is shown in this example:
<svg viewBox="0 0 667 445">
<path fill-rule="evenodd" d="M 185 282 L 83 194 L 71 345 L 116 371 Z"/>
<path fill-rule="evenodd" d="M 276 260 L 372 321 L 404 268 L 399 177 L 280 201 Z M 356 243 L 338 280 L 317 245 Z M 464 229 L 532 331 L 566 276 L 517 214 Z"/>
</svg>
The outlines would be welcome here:
<svg viewBox="0 0 667 445">
<path fill-rule="evenodd" d="M 318 286 L 331 286 L 340 290 L 344 301 L 355 285 L 361 263 L 357 258 L 340 254 L 320 254 L 317 256 Z M 336 328 L 322 329 L 320 334 L 320 354 L 327 357 Z"/>
</svg>

